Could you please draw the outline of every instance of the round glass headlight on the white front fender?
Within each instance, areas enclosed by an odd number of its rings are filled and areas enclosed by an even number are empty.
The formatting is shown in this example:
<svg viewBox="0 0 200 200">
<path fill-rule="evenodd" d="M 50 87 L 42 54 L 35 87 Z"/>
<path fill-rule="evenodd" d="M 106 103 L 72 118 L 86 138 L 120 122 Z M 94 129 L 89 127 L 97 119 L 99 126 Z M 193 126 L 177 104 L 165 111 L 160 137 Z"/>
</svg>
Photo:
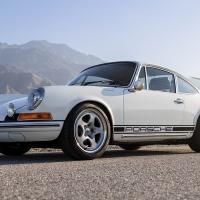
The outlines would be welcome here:
<svg viewBox="0 0 200 200">
<path fill-rule="evenodd" d="M 30 110 L 36 109 L 44 98 L 44 88 L 32 90 L 28 96 L 28 108 Z"/>
</svg>

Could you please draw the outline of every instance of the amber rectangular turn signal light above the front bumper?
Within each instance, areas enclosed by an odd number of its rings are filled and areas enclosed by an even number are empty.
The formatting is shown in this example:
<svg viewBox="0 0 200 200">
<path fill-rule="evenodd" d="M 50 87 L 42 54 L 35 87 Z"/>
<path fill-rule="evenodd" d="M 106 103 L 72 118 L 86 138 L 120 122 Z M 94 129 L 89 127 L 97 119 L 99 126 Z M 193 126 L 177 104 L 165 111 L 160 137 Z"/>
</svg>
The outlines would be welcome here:
<svg viewBox="0 0 200 200">
<path fill-rule="evenodd" d="M 51 113 L 20 113 L 18 121 L 53 120 Z"/>
</svg>

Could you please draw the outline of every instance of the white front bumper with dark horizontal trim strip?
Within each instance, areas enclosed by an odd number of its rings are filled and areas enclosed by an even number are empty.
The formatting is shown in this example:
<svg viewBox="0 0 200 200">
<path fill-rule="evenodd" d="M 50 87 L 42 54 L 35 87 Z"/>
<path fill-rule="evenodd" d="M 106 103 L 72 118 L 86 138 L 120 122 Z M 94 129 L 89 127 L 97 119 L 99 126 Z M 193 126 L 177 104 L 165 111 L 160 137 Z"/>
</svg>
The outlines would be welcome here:
<svg viewBox="0 0 200 200">
<path fill-rule="evenodd" d="M 0 142 L 52 141 L 59 135 L 63 121 L 0 122 Z"/>
</svg>

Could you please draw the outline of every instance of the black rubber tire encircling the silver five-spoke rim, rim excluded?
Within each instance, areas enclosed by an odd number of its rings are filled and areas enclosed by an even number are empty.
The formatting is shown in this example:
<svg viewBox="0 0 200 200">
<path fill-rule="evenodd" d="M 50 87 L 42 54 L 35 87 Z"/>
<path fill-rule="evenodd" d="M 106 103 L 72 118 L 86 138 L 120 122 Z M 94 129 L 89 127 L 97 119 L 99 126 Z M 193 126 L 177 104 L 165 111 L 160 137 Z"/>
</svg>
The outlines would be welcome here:
<svg viewBox="0 0 200 200">
<path fill-rule="evenodd" d="M 76 123 L 81 113 L 84 113 L 87 110 L 89 110 L 90 112 L 94 112 L 98 117 L 102 118 L 101 120 L 104 122 L 103 125 L 106 128 L 106 131 L 105 131 L 106 134 L 102 136 L 104 137 L 104 140 L 96 152 L 88 152 L 84 150 L 81 147 L 81 145 L 79 145 L 79 143 L 77 142 L 76 130 L 78 129 L 76 128 L 77 127 Z M 86 130 L 84 129 L 83 131 L 86 131 Z M 86 132 L 84 132 L 84 137 L 85 137 L 85 133 Z M 105 112 L 94 104 L 85 103 L 75 108 L 71 112 L 68 119 L 65 121 L 63 130 L 59 138 L 59 144 L 61 145 L 61 149 L 66 155 L 77 160 L 91 160 L 91 159 L 102 156 L 102 154 L 106 151 L 106 148 L 109 144 L 110 137 L 111 137 L 111 126 Z M 95 137 L 93 139 L 96 140 Z M 89 144 L 87 145 L 89 148 Z"/>
</svg>

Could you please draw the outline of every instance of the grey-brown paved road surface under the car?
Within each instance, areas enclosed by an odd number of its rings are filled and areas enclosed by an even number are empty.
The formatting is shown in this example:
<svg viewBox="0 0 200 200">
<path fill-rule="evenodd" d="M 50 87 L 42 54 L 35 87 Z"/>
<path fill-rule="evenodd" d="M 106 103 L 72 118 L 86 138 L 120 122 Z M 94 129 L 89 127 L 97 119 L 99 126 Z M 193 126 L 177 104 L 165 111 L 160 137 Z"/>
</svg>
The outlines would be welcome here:
<svg viewBox="0 0 200 200">
<path fill-rule="evenodd" d="M 111 149 L 72 161 L 61 152 L 0 155 L 0 199 L 200 199 L 200 154 L 187 146 Z"/>
</svg>

